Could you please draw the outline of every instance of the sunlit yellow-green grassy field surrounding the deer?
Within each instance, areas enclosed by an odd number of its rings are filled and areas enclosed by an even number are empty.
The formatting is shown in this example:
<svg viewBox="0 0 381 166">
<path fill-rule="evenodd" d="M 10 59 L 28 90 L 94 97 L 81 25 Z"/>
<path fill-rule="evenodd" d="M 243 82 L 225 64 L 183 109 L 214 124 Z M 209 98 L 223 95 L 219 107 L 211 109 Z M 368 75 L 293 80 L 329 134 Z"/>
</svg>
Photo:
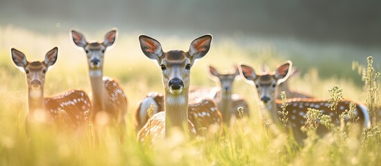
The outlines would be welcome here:
<svg viewBox="0 0 381 166">
<path fill-rule="evenodd" d="M 103 39 L 103 32 L 85 34 L 90 40 Z M 251 117 L 237 121 L 233 129 L 227 129 L 226 136 L 197 138 L 190 142 L 173 137 L 155 148 L 138 144 L 132 125 L 133 111 L 146 93 L 162 92 L 162 82 L 158 66 L 142 54 L 137 35 L 120 33 L 115 47 L 105 53 L 105 75 L 117 78 L 128 96 L 125 142 L 120 142 L 112 129 L 103 135 L 99 145 L 86 136 L 71 140 L 45 130 L 40 131 L 37 139 L 28 142 L 24 132 L 25 75 L 12 64 L 10 47 L 21 50 L 29 61 L 42 60 L 48 50 L 59 47 L 58 61 L 46 74 L 45 95 L 73 88 L 90 90 L 85 53 L 73 46 L 69 33 L 49 35 L 0 27 L 0 165 L 381 165 L 379 136 L 378 145 L 373 146 L 379 149 L 366 147 L 362 140 L 351 137 L 339 147 L 323 139 L 300 147 L 283 135 L 268 137 L 262 127 L 254 89 L 240 79 L 235 82 L 233 91 L 248 100 Z M 196 38 L 152 37 L 160 41 L 164 51 L 187 50 Z M 344 89 L 344 98 L 366 102 L 367 93 L 358 83 L 361 77 L 357 71 L 351 70 L 351 62 L 358 60 L 366 66 L 366 57 L 372 55 L 375 68 L 380 71 L 381 52 L 377 51 L 321 44 L 300 44 L 289 48 L 297 42 L 242 44 L 234 38 L 215 38 L 210 53 L 192 68 L 192 87 L 215 86 L 208 78 L 209 64 L 223 70 L 245 62 L 259 69 L 262 64 L 274 68 L 283 60 L 291 59 L 300 66 L 302 73 L 291 80 L 295 89 L 328 98 L 327 90 L 338 84 Z M 346 53 L 350 55 L 345 57 Z M 341 76 L 346 73 L 351 77 Z M 380 105 L 380 101 L 377 104 Z"/>
</svg>

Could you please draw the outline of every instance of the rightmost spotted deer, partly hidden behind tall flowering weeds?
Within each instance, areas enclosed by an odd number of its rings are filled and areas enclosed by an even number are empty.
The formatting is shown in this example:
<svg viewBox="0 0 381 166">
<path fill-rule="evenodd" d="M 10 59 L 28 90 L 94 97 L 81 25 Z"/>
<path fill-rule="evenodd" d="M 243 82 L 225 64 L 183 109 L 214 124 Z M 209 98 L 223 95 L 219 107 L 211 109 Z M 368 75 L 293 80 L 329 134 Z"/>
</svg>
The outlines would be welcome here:
<svg viewBox="0 0 381 166">
<path fill-rule="evenodd" d="M 269 111 L 269 116 L 274 123 L 278 122 L 280 118 L 278 111 L 281 110 L 280 106 L 282 104 L 282 101 L 276 99 L 276 96 L 278 95 L 278 85 L 287 80 L 290 75 L 291 66 L 291 61 L 286 61 L 279 64 L 276 67 L 275 72 L 255 73 L 254 69 L 250 66 L 246 64 L 239 65 L 239 72 L 242 77 L 248 84 L 255 86 L 255 89 L 257 90 L 257 100 L 262 103 L 265 110 Z M 289 127 L 291 125 L 293 129 L 292 131 L 295 140 L 301 143 L 303 139 L 306 138 L 306 134 L 303 133 L 300 128 L 305 124 L 303 116 L 307 115 L 307 108 L 319 109 L 322 113 L 331 116 L 332 120 L 337 120 L 341 112 L 346 109 L 349 110 L 350 102 L 352 101 L 342 100 L 339 102 L 336 113 L 335 111 L 330 110 L 328 107 L 330 103 L 324 99 L 291 98 L 287 100 L 288 106 L 286 107 L 286 111 L 289 112 L 288 125 Z M 355 114 L 359 117 L 357 124 L 362 127 L 369 127 L 369 113 L 363 104 L 356 102 Z M 320 125 L 316 132 L 318 136 L 324 136 L 328 133 L 328 130 Z"/>
</svg>

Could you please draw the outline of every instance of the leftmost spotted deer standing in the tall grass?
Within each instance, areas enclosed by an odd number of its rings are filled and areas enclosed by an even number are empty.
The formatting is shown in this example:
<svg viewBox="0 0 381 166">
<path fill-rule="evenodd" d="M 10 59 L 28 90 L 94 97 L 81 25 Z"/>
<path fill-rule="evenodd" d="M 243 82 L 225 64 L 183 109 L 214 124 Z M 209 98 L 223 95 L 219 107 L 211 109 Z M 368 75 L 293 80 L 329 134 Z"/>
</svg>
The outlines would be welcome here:
<svg viewBox="0 0 381 166">
<path fill-rule="evenodd" d="M 88 113 L 91 110 L 87 93 L 71 89 L 59 95 L 44 96 L 45 75 L 56 63 L 58 48 L 49 50 L 43 61 L 29 62 L 24 53 L 11 48 L 12 61 L 26 75 L 28 85 L 28 111 L 25 129 L 31 136 L 31 128 L 35 122 L 58 127 L 60 131 L 78 131 L 87 129 Z"/>
</svg>

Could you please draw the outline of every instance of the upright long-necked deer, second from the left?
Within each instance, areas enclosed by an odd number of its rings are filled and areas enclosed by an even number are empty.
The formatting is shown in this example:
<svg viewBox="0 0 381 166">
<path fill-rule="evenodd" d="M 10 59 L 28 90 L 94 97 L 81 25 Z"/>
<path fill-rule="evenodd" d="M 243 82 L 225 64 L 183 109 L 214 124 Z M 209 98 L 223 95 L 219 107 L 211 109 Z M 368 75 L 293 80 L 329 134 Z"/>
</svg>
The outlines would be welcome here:
<svg viewBox="0 0 381 166">
<path fill-rule="evenodd" d="M 112 77 L 103 76 L 105 50 L 115 44 L 117 29 L 113 28 L 105 34 L 103 42 L 87 42 L 85 35 L 79 30 L 71 29 L 74 44 L 85 51 L 87 67 L 92 89 L 92 113 L 94 124 L 102 124 L 110 120 L 119 131 L 126 127 L 125 115 L 127 98 L 119 82 Z"/>
</svg>

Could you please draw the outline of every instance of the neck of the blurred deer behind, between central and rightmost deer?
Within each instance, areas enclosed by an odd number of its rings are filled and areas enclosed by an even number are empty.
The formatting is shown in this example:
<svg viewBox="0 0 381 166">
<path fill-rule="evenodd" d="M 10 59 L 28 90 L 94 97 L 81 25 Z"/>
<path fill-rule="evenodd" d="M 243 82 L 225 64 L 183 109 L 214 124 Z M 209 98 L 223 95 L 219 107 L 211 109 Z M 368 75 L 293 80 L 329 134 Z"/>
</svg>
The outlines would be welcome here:
<svg viewBox="0 0 381 166">
<path fill-rule="evenodd" d="M 222 120 L 226 124 L 230 124 L 230 110 L 232 109 L 232 93 L 221 91 L 221 102 L 219 102 L 219 110 L 222 114 Z"/>
</svg>

